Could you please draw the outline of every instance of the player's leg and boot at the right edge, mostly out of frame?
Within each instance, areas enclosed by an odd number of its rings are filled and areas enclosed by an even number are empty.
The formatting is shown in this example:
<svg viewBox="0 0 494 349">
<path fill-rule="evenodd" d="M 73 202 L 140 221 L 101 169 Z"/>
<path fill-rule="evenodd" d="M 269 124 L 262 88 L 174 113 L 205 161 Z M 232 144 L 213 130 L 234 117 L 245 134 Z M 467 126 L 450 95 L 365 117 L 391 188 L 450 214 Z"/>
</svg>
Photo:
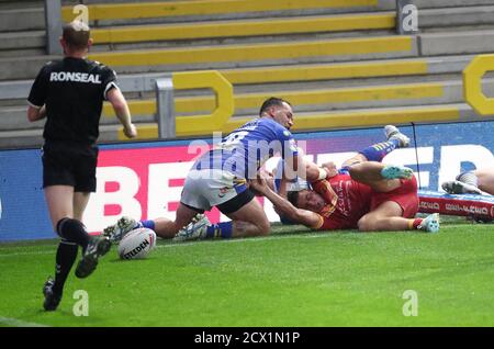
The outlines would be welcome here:
<svg viewBox="0 0 494 349">
<path fill-rule="evenodd" d="M 462 172 L 454 181 L 444 182 L 442 189 L 450 194 L 482 195 L 486 192 L 494 195 L 494 168 Z"/>
</svg>

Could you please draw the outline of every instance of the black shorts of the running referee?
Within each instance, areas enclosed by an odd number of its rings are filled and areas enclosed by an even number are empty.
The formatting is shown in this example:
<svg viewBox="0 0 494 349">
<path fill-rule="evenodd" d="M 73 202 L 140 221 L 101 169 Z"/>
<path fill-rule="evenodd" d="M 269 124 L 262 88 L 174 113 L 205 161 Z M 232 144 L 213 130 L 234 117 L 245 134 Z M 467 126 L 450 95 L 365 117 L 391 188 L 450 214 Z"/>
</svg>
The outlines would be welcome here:
<svg viewBox="0 0 494 349">
<path fill-rule="evenodd" d="M 98 148 L 66 143 L 43 146 L 43 188 L 70 185 L 75 192 L 94 192 Z"/>
</svg>

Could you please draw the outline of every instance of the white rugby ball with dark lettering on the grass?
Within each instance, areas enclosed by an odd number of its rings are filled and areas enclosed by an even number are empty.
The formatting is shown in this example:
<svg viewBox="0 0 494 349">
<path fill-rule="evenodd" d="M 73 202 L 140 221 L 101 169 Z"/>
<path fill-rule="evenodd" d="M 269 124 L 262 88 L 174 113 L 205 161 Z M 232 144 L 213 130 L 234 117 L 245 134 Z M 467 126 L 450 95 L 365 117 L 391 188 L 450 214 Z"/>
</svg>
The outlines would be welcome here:
<svg viewBox="0 0 494 349">
<path fill-rule="evenodd" d="M 121 259 L 142 259 L 156 246 L 156 233 L 149 228 L 128 232 L 119 244 Z"/>
</svg>

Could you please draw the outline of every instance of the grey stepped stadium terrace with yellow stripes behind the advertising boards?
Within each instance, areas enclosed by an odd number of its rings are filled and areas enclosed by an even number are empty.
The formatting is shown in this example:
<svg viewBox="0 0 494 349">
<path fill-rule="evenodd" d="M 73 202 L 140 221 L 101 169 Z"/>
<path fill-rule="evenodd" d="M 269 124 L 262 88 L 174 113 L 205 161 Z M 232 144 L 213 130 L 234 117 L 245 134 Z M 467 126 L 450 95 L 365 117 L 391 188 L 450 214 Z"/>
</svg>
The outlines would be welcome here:
<svg viewBox="0 0 494 349">
<path fill-rule="evenodd" d="M 120 2 L 136 1 L 83 1 L 103 4 L 93 8 L 100 9 L 100 14 L 104 14 L 104 4 Z M 168 7 L 159 10 L 164 14 L 159 20 L 176 18 L 186 2 L 166 1 Z M 0 1 L 0 147 L 42 144 L 42 123 L 25 121 L 23 99 L 40 67 L 57 58 L 40 54 L 45 45 L 43 1 L 23 3 Z M 144 9 L 145 1 L 137 3 L 131 16 L 158 13 Z M 156 135 L 156 106 L 148 100 L 154 93 L 148 89 L 154 77 L 197 69 L 221 69 L 236 79 L 237 108 L 224 132 L 255 114 L 259 101 L 270 93 L 293 100 L 300 132 L 316 125 L 343 128 L 385 122 L 482 120 L 464 104 L 461 70 L 472 56 L 494 50 L 494 0 L 415 1 L 419 33 L 414 36 L 394 34 L 394 0 L 234 1 L 223 9 L 213 9 L 213 3 L 201 9 L 199 2 L 188 2 L 193 11 L 171 25 L 158 21 L 135 27 L 143 24 L 141 20 L 117 19 L 93 23 L 100 43 L 91 50 L 91 58 L 117 70 L 143 138 Z M 269 10 L 273 3 L 279 11 Z M 119 8 L 112 15 L 128 15 L 125 7 Z M 217 14 L 231 15 L 234 21 Z M 218 19 L 223 19 L 222 30 L 215 31 Z M 279 25 L 270 25 L 272 21 Z M 8 32 L 2 32 L 1 25 Z M 176 37 L 177 33 L 182 36 Z M 417 63 L 413 68 L 397 67 L 405 60 Z M 381 68 L 372 67 L 374 64 Z M 345 65 L 348 67 L 343 69 Z M 373 75 L 363 74 L 366 70 Z M 136 76 L 143 81 L 141 90 L 135 89 Z M 491 93 L 492 81 L 484 85 Z M 213 108 L 214 98 L 207 91 L 176 94 L 179 116 Z M 111 112 L 105 108 L 108 114 Z M 104 116 L 102 123 L 100 139 L 121 139 L 115 117 Z"/>
</svg>

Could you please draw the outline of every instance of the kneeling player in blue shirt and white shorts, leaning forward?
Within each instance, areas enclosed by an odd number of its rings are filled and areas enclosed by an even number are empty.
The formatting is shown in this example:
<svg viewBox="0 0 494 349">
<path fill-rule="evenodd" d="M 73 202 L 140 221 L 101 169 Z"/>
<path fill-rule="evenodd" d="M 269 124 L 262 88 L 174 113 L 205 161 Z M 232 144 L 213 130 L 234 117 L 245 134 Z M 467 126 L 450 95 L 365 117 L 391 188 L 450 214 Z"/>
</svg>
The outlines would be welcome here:
<svg viewBox="0 0 494 349">
<path fill-rule="evenodd" d="M 267 235 L 270 222 L 262 206 L 248 189 L 247 179 L 255 179 L 259 168 L 276 154 L 295 172 L 302 160 L 290 133 L 293 125 L 293 111 L 289 102 L 270 98 L 262 104 L 259 117 L 235 130 L 212 150 L 201 156 L 192 166 L 186 179 L 180 204 L 175 221 L 156 218 L 136 222 L 122 217 L 115 225 L 104 229 L 103 235 L 116 241 L 127 232 L 144 226 L 151 228 L 162 238 L 172 238 L 181 228 L 192 223 L 203 227 L 200 235 L 205 237 L 244 237 Z M 326 172 L 318 168 L 306 173 L 312 179 L 325 178 Z M 299 173 L 305 177 L 304 173 Z M 216 206 L 232 222 L 211 225 L 209 221 L 197 218 L 198 214 Z M 195 230 L 189 230 L 195 234 Z M 176 239 L 190 238 L 187 232 Z"/>
</svg>

